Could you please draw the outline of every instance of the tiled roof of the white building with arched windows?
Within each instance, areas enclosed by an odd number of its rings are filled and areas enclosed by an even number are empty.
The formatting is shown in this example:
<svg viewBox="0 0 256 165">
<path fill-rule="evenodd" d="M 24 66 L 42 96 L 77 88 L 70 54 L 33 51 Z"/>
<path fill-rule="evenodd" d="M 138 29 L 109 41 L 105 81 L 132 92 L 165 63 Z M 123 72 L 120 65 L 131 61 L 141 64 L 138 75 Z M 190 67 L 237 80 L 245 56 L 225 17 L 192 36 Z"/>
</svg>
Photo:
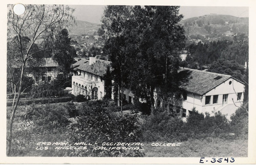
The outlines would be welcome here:
<svg viewBox="0 0 256 165">
<path fill-rule="evenodd" d="M 111 65 L 110 61 L 96 59 L 96 62 L 89 65 L 89 60 L 81 59 L 74 63 L 71 67 L 74 70 L 82 70 L 94 75 L 103 76 L 106 73 L 106 69 Z"/>
</svg>

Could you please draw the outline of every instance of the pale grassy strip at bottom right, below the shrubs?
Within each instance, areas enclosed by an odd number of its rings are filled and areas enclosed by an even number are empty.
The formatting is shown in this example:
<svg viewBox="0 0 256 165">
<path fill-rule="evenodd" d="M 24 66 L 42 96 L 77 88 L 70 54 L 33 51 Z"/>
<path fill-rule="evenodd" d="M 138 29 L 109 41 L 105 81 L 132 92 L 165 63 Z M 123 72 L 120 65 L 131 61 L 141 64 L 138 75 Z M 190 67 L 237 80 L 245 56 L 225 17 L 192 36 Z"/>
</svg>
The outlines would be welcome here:
<svg viewBox="0 0 256 165">
<path fill-rule="evenodd" d="M 174 147 L 153 147 L 152 143 L 145 143 L 143 149 L 145 157 L 247 157 L 248 140 L 190 139 Z"/>
</svg>

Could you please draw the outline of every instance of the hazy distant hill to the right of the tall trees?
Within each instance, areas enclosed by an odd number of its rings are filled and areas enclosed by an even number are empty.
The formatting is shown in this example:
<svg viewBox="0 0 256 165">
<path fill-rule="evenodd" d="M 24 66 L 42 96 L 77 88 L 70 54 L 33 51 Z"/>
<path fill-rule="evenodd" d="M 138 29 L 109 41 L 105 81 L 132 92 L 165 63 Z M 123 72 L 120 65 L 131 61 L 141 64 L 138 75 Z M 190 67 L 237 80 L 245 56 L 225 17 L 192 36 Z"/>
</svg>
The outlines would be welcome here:
<svg viewBox="0 0 256 165">
<path fill-rule="evenodd" d="M 206 38 L 231 37 L 236 34 L 249 33 L 248 17 L 236 17 L 231 15 L 210 14 L 181 20 L 185 34 L 190 36 L 201 35 Z"/>
</svg>

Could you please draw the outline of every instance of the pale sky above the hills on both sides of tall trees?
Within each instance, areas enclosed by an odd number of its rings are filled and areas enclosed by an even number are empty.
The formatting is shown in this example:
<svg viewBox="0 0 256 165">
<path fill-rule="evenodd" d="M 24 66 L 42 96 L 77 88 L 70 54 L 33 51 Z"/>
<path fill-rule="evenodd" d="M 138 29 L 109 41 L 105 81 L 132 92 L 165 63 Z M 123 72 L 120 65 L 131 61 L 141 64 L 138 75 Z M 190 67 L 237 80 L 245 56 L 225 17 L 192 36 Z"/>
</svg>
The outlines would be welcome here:
<svg viewBox="0 0 256 165">
<path fill-rule="evenodd" d="M 71 8 L 75 8 L 74 16 L 77 20 L 84 20 L 92 23 L 101 23 L 100 19 L 104 11 L 105 6 L 101 5 L 70 5 Z M 248 17 L 248 7 L 205 7 L 205 6 L 181 6 L 180 14 L 183 14 L 184 18 L 198 17 L 207 15 L 210 13 L 233 15 L 237 17 Z"/>
</svg>

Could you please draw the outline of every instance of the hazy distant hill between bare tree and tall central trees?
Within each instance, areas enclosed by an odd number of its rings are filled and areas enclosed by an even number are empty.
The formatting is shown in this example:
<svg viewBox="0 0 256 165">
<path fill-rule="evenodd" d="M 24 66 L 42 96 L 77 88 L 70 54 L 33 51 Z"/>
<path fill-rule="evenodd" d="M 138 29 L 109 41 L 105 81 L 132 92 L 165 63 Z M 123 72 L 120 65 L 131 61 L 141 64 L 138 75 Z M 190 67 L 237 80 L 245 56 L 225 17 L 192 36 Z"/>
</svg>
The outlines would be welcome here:
<svg viewBox="0 0 256 165">
<path fill-rule="evenodd" d="M 93 35 L 94 32 L 97 33 L 98 29 L 100 28 L 100 24 L 91 23 L 88 21 L 77 20 L 76 23 L 77 25 L 70 29 L 70 35 Z"/>
</svg>

